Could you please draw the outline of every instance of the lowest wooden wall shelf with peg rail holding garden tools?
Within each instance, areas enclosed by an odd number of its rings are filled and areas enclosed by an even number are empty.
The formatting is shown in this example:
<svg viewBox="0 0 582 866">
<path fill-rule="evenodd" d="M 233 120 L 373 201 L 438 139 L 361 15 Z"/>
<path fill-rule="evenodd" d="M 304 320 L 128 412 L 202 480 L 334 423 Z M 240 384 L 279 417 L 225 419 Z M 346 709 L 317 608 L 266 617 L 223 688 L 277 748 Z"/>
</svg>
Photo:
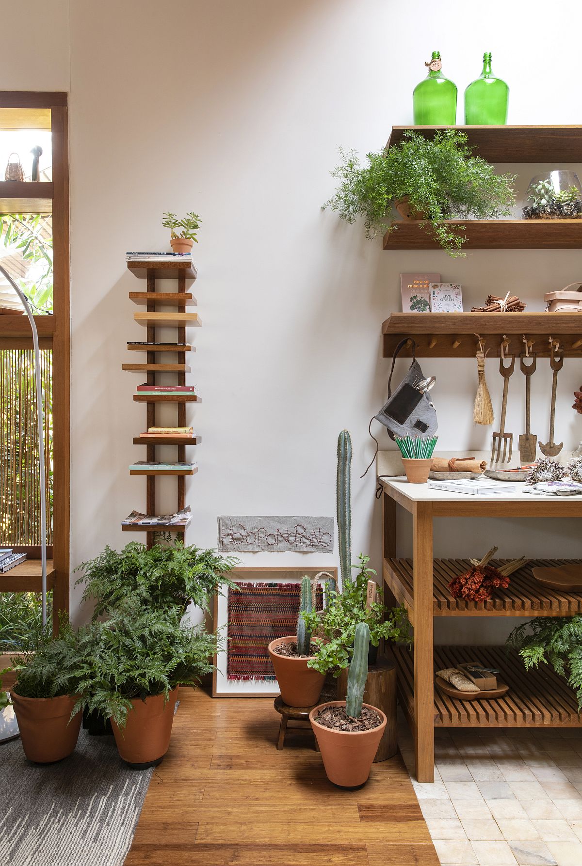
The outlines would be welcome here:
<svg viewBox="0 0 582 866">
<path fill-rule="evenodd" d="M 580 357 L 581 325 L 580 313 L 391 313 L 382 326 L 383 352 L 391 358 L 400 340 L 411 337 L 419 357 L 475 358 L 478 333 L 486 340 L 487 357 L 498 358 L 504 335 L 509 343 L 506 354 L 519 355 L 525 334 L 540 358 L 550 356 L 550 336 L 559 340 L 566 354 Z M 404 347 L 402 354 L 410 358 L 412 347 Z"/>
</svg>

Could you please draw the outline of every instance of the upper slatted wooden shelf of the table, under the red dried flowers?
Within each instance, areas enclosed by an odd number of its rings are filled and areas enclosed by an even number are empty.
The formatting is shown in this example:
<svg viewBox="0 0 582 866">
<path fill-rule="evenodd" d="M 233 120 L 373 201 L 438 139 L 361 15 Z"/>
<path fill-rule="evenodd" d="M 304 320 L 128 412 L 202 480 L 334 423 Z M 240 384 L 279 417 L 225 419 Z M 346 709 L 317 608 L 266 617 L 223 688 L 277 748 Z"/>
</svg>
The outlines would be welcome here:
<svg viewBox="0 0 582 866">
<path fill-rule="evenodd" d="M 492 559 L 492 565 L 508 562 Z M 453 598 L 449 582 L 470 568 L 469 559 L 435 559 L 433 562 L 433 616 L 435 617 L 572 617 L 582 613 L 582 592 L 546 589 L 533 577 L 536 565 L 580 563 L 579 559 L 533 559 L 509 577 L 506 590 L 499 590 L 486 602 Z M 412 559 L 385 559 L 384 579 L 398 599 L 412 611 Z"/>
</svg>

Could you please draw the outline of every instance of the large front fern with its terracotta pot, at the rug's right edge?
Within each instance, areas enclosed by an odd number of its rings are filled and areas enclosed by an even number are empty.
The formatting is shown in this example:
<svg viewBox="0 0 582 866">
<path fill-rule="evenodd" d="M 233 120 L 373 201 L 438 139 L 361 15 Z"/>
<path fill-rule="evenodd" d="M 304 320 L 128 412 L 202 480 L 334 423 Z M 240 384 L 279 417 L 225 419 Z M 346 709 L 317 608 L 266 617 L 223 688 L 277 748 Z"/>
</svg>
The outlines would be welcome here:
<svg viewBox="0 0 582 866">
<path fill-rule="evenodd" d="M 167 752 L 178 688 L 195 688 L 212 671 L 217 636 L 181 619 L 129 602 L 91 624 L 81 644 L 74 710 L 110 718 L 120 757 L 135 769 Z"/>
</svg>

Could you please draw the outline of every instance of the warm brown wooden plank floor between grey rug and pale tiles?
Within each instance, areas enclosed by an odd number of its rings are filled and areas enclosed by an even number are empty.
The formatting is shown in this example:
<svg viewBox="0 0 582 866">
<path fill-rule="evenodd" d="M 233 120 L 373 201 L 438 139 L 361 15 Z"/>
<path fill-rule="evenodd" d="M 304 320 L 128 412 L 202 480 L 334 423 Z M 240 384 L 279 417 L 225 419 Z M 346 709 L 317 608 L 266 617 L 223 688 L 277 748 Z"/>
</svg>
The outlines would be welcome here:
<svg viewBox="0 0 582 866">
<path fill-rule="evenodd" d="M 276 751 L 279 721 L 272 699 L 181 689 L 126 866 L 438 866 L 399 755 L 342 791 L 312 734 Z"/>
</svg>

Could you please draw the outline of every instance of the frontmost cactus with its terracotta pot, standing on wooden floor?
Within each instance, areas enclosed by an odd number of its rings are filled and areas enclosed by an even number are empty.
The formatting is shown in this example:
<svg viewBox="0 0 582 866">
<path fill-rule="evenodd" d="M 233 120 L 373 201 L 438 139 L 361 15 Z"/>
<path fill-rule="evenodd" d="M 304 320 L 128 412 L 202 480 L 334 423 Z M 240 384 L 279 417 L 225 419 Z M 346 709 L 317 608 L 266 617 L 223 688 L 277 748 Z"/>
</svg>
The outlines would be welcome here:
<svg viewBox="0 0 582 866">
<path fill-rule="evenodd" d="M 342 788 L 365 784 L 386 727 L 382 710 L 363 702 L 369 641 L 368 626 L 359 623 L 347 676 L 346 701 L 328 701 L 309 714 L 327 779 Z"/>
</svg>

